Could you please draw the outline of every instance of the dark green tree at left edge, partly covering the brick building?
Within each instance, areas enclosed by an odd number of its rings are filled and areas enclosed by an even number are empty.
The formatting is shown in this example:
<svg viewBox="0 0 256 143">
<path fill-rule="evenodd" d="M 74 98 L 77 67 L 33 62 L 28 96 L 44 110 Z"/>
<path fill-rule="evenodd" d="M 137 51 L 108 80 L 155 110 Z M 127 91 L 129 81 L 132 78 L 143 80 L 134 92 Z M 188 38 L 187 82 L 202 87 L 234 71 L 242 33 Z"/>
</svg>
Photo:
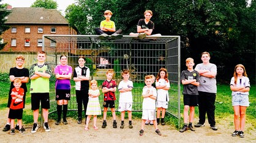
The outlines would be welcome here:
<svg viewBox="0 0 256 143">
<path fill-rule="evenodd" d="M 7 20 L 6 16 L 10 14 L 10 10 L 6 10 L 7 5 L 8 4 L 0 4 L 0 35 L 2 35 L 2 33 L 10 28 L 9 26 L 6 26 L 6 24 L 4 24 Z M 0 41 L 2 41 L 1 37 Z M 6 44 L 7 43 L 0 42 L 0 51 L 4 48 Z"/>
</svg>

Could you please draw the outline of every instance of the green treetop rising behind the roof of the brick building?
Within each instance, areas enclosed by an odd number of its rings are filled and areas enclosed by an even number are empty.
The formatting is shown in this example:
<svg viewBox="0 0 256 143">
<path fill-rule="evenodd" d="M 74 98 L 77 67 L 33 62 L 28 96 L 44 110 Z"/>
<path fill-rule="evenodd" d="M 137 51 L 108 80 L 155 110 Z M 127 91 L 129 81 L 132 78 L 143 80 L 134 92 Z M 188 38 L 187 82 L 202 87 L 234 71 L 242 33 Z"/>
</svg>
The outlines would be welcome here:
<svg viewBox="0 0 256 143">
<path fill-rule="evenodd" d="M 45 9 L 57 9 L 58 4 L 53 0 L 36 0 L 31 7 L 43 7 Z"/>
</svg>

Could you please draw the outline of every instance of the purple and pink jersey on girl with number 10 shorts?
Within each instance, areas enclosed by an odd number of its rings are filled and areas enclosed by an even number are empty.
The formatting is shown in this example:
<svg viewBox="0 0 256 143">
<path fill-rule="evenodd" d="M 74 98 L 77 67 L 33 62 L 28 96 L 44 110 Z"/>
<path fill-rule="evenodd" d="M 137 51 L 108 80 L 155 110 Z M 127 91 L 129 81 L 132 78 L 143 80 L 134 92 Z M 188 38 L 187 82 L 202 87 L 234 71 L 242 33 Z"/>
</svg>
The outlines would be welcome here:
<svg viewBox="0 0 256 143">
<path fill-rule="evenodd" d="M 55 67 L 55 74 L 59 75 L 69 75 L 72 74 L 72 67 L 69 65 L 62 66 L 57 65 Z M 70 89 L 70 79 L 56 79 L 55 89 Z"/>
</svg>

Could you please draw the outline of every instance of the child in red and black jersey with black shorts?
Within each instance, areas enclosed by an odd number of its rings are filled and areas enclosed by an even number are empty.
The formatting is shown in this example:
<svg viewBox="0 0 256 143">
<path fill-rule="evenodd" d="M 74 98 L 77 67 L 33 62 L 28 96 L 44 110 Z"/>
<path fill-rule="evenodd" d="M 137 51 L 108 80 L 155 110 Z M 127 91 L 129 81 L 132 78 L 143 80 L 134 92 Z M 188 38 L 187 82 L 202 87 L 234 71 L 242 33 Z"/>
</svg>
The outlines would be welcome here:
<svg viewBox="0 0 256 143">
<path fill-rule="evenodd" d="M 115 100 L 116 100 L 116 81 L 112 80 L 114 75 L 113 69 L 108 69 L 106 73 L 107 80 L 102 83 L 102 92 L 104 92 L 104 111 L 103 111 L 103 124 L 102 128 L 107 127 L 107 111 L 108 107 L 111 109 L 113 116 L 113 128 L 117 128 L 116 123 L 116 110 L 115 110 Z"/>
</svg>

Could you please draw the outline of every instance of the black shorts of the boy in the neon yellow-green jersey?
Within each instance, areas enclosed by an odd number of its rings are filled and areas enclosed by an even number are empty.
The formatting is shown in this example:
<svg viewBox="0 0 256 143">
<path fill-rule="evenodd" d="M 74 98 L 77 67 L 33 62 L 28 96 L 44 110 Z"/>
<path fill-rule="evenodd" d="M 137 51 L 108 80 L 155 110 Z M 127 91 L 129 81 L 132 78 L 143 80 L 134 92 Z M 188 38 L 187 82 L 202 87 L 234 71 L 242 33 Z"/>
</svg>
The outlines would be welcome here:
<svg viewBox="0 0 256 143">
<path fill-rule="evenodd" d="M 50 109 L 49 93 L 31 93 L 31 109 L 38 110 L 40 106 L 43 109 Z"/>
</svg>

